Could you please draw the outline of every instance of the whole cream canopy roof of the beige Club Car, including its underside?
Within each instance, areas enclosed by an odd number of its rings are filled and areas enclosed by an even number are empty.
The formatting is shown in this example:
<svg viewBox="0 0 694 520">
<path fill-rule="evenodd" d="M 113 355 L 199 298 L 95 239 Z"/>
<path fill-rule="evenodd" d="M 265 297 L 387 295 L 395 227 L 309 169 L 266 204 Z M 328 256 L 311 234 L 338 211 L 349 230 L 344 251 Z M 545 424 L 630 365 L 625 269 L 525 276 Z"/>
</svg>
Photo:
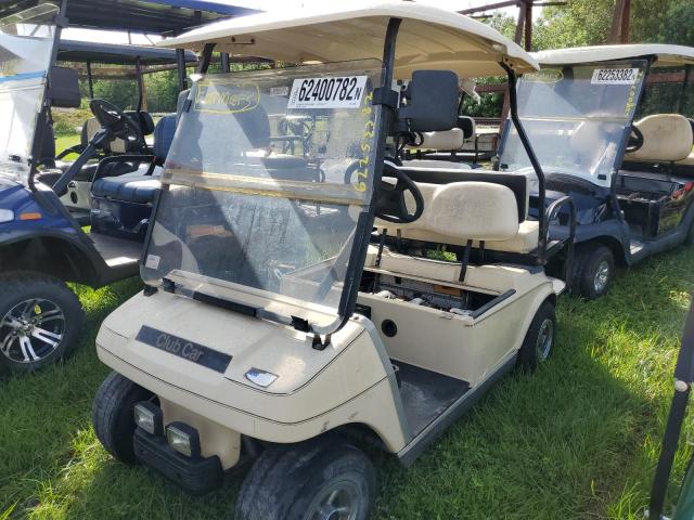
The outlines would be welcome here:
<svg viewBox="0 0 694 520">
<path fill-rule="evenodd" d="M 332 2 L 325 2 L 326 4 Z M 505 74 L 505 60 L 519 74 L 537 69 L 520 47 L 491 27 L 461 14 L 411 1 L 374 5 L 324 5 L 292 13 L 268 12 L 209 24 L 163 47 L 201 51 L 205 43 L 233 55 L 288 63 L 342 62 L 383 57 L 388 21 L 402 18 L 396 46 L 398 79 L 415 69 L 448 69 L 459 77 Z"/>
</svg>

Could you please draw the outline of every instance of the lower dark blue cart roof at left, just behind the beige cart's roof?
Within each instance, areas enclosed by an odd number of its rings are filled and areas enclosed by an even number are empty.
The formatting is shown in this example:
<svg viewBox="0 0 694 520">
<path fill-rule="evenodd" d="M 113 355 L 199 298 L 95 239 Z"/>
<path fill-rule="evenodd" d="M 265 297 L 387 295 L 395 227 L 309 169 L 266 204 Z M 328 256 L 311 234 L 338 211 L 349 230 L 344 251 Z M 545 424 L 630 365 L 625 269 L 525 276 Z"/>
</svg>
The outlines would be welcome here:
<svg viewBox="0 0 694 520">
<path fill-rule="evenodd" d="M 115 43 L 93 43 L 91 41 L 61 40 L 57 50 L 59 62 L 100 63 L 108 65 L 166 65 L 176 63 L 174 49 L 156 47 L 123 46 Z M 185 52 L 185 61 L 195 63 L 194 52 Z"/>
</svg>

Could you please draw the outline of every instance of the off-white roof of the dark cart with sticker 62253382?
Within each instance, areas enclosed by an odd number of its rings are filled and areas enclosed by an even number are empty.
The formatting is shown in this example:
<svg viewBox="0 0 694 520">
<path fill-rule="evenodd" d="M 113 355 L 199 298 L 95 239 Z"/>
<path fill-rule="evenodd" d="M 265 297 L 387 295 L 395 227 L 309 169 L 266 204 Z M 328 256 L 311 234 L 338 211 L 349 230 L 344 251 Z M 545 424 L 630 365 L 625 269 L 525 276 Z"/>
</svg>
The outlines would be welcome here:
<svg viewBox="0 0 694 520">
<path fill-rule="evenodd" d="M 625 46 L 575 47 L 531 53 L 541 65 L 575 65 L 579 63 L 657 56 L 656 67 L 694 64 L 694 48 L 663 43 L 632 43 Z"/>
</svg>

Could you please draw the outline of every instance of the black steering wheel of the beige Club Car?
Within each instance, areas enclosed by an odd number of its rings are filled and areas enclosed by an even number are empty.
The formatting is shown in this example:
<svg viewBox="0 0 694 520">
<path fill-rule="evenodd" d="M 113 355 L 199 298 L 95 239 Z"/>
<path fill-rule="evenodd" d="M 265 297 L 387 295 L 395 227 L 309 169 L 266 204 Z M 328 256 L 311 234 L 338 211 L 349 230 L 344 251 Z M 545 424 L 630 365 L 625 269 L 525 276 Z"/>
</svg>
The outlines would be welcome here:
<svg viewBox="0 0 694 520">
<path fill-rule="evenodd" d="M 395 179 L 395 184 L 385 181 L 387 178 Z M 410 192 L 414 198 L 413 212 L 408 208 L 406 192 Z M 404 171 L 388 162 L 383 165 L 383 179 L 374 193 L 374 204 L 376 217 L 396 224 L 414 222 L 424 212 L 424 197 L 417 185 Z"/>
</svg>

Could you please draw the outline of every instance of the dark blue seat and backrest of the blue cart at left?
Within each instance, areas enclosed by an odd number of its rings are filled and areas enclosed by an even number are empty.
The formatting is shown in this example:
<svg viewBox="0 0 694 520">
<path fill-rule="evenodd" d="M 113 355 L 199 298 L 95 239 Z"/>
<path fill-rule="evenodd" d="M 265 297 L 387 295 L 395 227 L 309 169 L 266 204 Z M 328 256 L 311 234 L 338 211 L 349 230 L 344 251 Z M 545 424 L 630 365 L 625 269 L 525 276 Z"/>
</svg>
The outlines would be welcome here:
<svg viewBox="0 0 694 520">
<path fill-rule="evenodd" d="M 164 116 L 154 130 L 153 152 L 156 165 L 164 165 L 176 134 L 176 115 Z M 92 195 L 112 200 L 136 204 L 152 204 L 162 186 L 158 171 L 142 174 L 103 177 L 92 184 Z"/>
</svg>

